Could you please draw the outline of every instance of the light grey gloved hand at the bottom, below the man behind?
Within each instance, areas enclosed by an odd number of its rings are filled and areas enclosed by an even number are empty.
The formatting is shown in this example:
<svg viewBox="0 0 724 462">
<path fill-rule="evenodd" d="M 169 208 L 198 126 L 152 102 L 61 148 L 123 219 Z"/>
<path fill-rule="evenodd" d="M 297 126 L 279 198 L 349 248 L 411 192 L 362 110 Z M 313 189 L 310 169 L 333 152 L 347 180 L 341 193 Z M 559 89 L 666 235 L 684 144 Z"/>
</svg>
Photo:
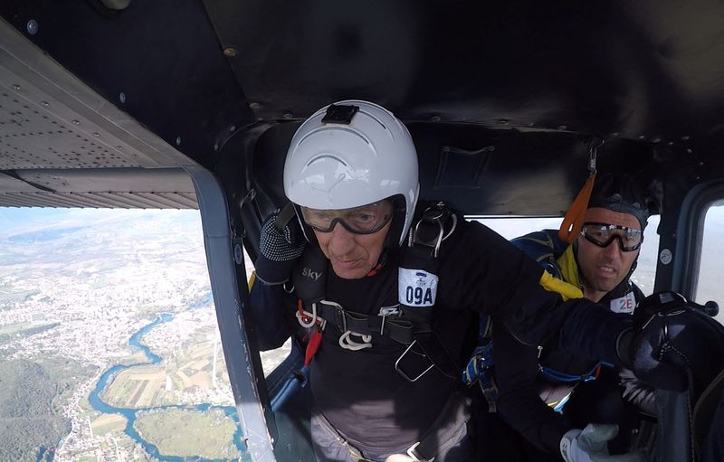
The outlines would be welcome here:
<svg viewBox="0 0 724 462">
<path fill-rule="evenodd" d="M 607 442 L 617 433 L 617 425 L 600 423 L 589 423 L 582 430 L 568 430 L 560 440 L 560 454 L 566 462 L 643 462 L 643 452 L 608 454 Z"/>
</svg>

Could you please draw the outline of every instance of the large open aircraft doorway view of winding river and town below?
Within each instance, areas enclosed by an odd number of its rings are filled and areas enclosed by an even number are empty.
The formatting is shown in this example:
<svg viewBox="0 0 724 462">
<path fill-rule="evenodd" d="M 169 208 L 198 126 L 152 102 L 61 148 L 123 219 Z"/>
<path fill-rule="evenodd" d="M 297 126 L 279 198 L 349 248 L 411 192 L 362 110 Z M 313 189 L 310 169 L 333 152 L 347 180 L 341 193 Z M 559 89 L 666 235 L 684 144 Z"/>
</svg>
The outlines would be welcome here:
<svg viewBox="0 0 724 462">
<path fill-rule="evenodd" d="M 198 211 L 0 209 L 0 254 L 0 460 L 244 456 Z"/>
</svg>

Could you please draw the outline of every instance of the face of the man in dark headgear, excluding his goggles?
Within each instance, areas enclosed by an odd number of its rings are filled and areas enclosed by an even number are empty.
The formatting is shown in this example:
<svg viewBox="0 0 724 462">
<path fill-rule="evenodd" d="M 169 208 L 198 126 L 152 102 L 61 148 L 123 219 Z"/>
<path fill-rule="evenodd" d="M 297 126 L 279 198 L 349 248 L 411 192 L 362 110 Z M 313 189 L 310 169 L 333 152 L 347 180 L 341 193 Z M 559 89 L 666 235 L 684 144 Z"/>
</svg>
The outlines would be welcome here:
<svg viewBox="0 0 724 462">
<path fill-rule="evenodd" d="M 594 207 L 586 212 L 586 222 L 627 226 L 641 231 L 638 219 L 629 213 L 612 212 Z M 584 236 L 578 236 L 578 269 L 583 276 L 584 288 L 602 292 L 600 297 L 618 286 L 628 275 L 639 255 L 639 250 L 624 252 L 621 242 L 614 239 L 606 247 L 598 247 Z M 586 295 L 586 297 L 588 297 Z"/>
</svg>

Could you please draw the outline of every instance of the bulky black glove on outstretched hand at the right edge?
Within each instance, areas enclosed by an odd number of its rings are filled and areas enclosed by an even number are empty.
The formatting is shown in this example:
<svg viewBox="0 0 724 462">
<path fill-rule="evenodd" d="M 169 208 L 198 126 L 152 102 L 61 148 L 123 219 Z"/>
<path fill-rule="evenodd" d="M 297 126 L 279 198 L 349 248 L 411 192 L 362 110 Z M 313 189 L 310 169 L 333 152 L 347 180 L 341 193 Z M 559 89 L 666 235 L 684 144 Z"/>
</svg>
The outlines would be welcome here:
<svg viewBox="0 0 724 462">
<path fill-rule="evenodd" d="M 636 307 L 618 352 L 654 388 L 700 391 L 724 366 L 724 326 L 680 294 L 661 292 Z"/>
</svg>

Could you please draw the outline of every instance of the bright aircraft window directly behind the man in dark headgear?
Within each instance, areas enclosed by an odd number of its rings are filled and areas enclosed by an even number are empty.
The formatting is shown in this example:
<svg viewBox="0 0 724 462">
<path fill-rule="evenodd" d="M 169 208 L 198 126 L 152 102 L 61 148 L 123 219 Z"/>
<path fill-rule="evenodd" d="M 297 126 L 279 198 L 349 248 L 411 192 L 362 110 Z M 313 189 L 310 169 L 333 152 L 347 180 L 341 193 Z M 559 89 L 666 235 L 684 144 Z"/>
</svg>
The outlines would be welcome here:
<svg viewBox="0 0 724 462">
<path fill-rule="evenodd" d="M 563 218 L 484 218 L 477 221 L 496 231 L 506 239 L 513 239 L 529 232 L 541 230 L 557 230 Z M 653 293 L 653 279 L 656 276 L 656 262 L 659 251 L 659 216 L 649 218 L 649 224 L 643 231 L 643 244 L 639 253 L 636 269 L 632 280 L 641 288 L 644 295 Z"/>
</svg>

